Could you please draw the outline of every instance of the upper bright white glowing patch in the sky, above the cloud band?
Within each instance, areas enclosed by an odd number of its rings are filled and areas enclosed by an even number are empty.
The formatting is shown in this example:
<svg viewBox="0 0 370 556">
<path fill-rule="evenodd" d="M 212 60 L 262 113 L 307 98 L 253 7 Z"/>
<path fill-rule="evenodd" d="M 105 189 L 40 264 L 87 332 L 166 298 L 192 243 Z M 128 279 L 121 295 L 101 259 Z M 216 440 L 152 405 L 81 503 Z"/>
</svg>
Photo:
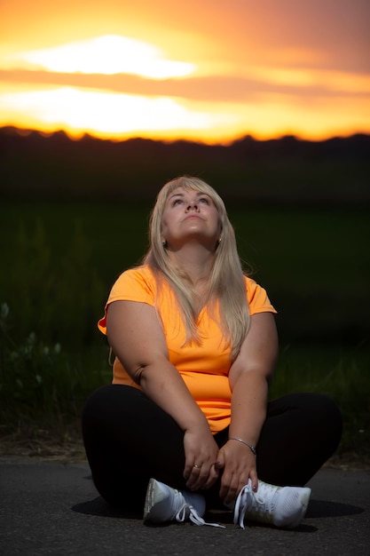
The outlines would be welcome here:
<svg viewBox="0 0 370 556">
<path fill-rule="evenodd" d="M 168 79 L 192 74 L 189 62 L 166 60 L 161 49 L 125 36 L 106 35 L 62 44 L 43 50 L 20 52 L 8 57 L 26 68 L 43 68 L 59 73 L 141 75 Z"/>
</svg>

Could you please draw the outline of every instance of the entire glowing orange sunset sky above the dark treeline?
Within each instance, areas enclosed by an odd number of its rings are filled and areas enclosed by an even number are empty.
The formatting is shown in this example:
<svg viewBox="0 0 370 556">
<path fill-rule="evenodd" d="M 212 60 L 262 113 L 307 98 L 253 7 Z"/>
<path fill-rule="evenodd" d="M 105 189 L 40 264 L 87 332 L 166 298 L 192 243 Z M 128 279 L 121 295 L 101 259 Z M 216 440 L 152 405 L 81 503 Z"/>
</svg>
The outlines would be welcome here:
<svg viewBox="0 0 370 556">
<path fill-rule="evenodd" d="M 0 0 L 0 126 L 370 133 L 369 0 Z"/>
</svg>

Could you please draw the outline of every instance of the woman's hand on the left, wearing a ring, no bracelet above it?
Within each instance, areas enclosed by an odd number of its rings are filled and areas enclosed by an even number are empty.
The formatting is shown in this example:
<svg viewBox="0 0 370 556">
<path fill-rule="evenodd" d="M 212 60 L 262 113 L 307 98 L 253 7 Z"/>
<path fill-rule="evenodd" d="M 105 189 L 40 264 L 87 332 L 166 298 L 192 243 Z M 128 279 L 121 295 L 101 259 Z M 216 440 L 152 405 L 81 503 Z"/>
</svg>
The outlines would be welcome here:
<svg viewBox="0 0 370 556">
<path fill-rule="evenodd" d="M 218 446 L 208 426 L 194 426 L 184 434 L 186 486 L 191 490 L 209 488 L 217 480 Z"/>
</svg>

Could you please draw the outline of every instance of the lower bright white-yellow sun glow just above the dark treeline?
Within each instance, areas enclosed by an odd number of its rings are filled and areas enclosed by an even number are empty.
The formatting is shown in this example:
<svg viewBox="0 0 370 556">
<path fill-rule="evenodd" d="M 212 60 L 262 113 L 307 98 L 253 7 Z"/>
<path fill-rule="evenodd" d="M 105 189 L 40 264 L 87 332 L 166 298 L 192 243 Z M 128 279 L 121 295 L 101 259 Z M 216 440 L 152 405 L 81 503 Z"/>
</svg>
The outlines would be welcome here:
<svg viewBox="0 0 370 556">
<path fill-rule="evenodd" d="M 215 123 L 211 115 L 188 109 L 165 97 L 80 91 L 63 87 L 0 95 L 9 113 L 29 114 L 47 130 L 65 125 L 75 134 L 94 130 L 103 135 L 132 132 L 204 130 Z M 218 118 L 219 120 L 221 118 Z"/>
</svg>

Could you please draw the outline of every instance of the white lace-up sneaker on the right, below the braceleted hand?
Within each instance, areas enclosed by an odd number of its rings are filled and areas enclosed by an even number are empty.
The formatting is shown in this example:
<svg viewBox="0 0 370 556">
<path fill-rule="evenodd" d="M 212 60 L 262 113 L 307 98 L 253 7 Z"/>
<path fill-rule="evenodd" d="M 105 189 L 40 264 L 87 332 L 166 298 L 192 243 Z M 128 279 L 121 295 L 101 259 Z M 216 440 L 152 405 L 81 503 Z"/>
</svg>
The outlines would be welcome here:
<svg viewBox="0 0 370 556">
<path fill-rule="evenodd" d="M 244 518 L 276 527 L 295 528 L 303 520 L 311 496 L 311 488 L 275 487 L 258 481 L 258 491 L 248 485 L 240 490 L 234 507 L 234 523 L 244 527 Z"/>
</svg>

